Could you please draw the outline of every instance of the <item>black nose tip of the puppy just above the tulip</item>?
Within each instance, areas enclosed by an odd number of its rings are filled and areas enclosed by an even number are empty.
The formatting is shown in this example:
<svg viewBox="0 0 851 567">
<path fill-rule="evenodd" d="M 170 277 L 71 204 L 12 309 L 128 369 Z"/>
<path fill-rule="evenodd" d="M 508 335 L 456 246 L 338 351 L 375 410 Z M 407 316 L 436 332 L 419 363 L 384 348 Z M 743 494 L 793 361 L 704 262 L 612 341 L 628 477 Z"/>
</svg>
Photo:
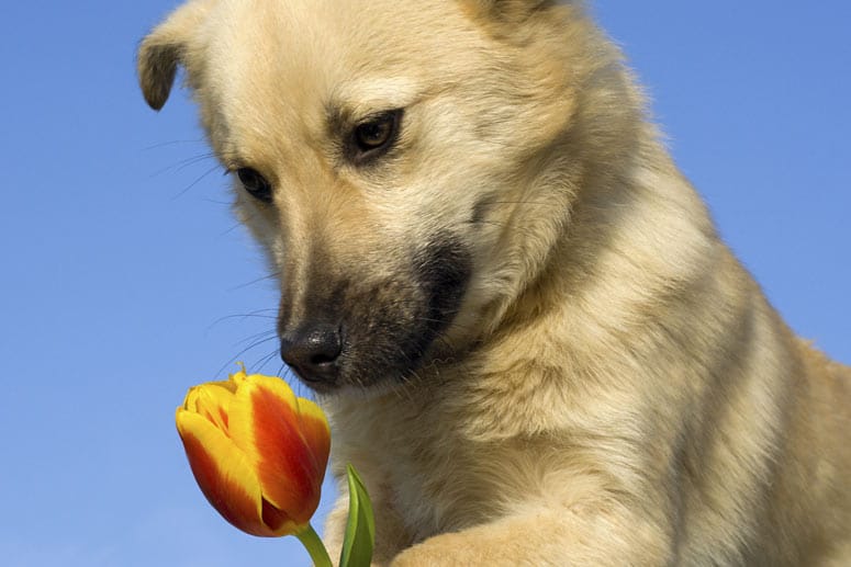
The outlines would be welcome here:
<svg viewBox="0 0 851 567">
<path fill-rule="evenodd" d="M 334 383 L 341 351 L 337 325 L 313 325 L 281 338 L 281 359 L 307 383 Z"/>
</svg>

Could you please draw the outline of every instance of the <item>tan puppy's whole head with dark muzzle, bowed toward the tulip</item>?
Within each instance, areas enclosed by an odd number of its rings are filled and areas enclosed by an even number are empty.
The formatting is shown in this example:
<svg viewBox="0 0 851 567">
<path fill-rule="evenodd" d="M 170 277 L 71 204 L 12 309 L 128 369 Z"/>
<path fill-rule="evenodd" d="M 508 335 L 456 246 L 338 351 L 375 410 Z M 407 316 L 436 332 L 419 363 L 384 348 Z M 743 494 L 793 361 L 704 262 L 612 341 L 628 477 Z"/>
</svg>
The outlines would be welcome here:
<svg viewBox="0 0 851 567">
<path fill-rule="evenodd" d="M 237 213 L 280 274 L 282 356 L 306 384 L 369 387 L 452 358 L 539 269 L 581 169 L 561 163 L 553 183 L 542 167 L 594 72 L 575 12 L 193 0 L 143 41 L 153 107 L 186 68 Z"/>
</svg>

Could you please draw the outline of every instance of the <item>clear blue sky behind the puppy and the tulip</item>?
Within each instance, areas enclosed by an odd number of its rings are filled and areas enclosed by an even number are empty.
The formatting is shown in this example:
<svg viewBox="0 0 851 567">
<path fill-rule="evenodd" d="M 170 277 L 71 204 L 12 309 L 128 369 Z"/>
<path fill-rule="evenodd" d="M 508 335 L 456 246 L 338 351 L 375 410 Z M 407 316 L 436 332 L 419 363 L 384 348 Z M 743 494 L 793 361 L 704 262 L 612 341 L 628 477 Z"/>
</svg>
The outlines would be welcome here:
<svg viewBox="0 0 851 567">
<path fill-rule="evenodd" d="M 176 4 L 3 5 L 8 567 L 306 564 L 292 538 L 225 524 L 175 432 L 186 389 L 224 376 L 233 356 L 280 370 L 273 285 L 194 109 L 178 91 L 153 113 L 135 84 L 137 41 Z M 598 0 L 594 11 L 721 234 L 797 332 L 851 362 L 851 4 Z"/>
</svg>

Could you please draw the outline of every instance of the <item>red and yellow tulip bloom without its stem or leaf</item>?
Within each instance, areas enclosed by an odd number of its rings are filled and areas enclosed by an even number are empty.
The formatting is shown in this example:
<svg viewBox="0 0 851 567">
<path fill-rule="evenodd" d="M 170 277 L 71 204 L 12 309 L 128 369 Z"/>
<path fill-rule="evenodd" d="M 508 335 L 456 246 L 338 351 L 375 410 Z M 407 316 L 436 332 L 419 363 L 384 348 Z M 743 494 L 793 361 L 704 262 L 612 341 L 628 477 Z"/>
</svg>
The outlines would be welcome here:
<svg viewBox="0 0 851 567">
<path fill-rule="evenodd" d="M 243 367 L 191 388 L 176 420 L 198 486 L 225 520 L 267 537 L 312 530 L 331 450 L 318 406 Z"/>
</svg>

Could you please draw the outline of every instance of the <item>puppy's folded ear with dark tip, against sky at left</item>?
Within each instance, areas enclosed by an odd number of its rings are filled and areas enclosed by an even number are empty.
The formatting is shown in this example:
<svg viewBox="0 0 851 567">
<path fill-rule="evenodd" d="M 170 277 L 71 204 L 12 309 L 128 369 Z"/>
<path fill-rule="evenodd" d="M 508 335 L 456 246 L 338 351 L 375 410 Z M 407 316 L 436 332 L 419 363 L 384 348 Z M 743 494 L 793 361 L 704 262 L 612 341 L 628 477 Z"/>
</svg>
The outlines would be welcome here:
<svg viewBox="0 0 851 567">
<path fill-rule="evenodd" d="M 186 66 L 192 39 L 210 11 L 209 0 L 181 5 L 142 41 L 136 59 L 145 100 L 160 110 L 168 100 L 179 65 Z"/>
</svg>

